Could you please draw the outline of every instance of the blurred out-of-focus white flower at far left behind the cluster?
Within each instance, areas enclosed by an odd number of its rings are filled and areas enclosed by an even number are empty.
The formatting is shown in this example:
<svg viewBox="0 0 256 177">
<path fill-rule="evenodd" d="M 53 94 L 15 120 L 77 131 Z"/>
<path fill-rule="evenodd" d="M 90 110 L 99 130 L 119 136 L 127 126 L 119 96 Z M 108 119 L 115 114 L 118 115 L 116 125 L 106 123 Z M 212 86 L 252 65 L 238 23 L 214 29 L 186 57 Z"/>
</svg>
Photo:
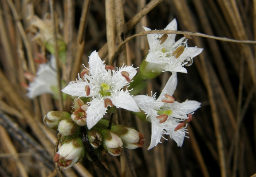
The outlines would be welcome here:
<svg viewBox="0 0 256 177">
<path fill-rule="evenodd" d="M 56 61 L 51 55 L 50 62 L 39 65 L 34 81 L 29 84 L 27 96 L 32 99 L 43 93 L 55 95 L 54 88 L 57 88 Z"/>
</svg>

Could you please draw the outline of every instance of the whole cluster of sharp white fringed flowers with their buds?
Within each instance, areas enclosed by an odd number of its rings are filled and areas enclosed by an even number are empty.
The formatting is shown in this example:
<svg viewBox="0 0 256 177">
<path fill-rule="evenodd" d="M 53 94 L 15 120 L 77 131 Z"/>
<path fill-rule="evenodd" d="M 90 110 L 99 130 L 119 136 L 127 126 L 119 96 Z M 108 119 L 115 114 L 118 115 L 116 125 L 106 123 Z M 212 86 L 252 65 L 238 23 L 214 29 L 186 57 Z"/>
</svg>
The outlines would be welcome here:
<svg viewBox="0 0 256 177">
<path fill-rule="evenodd" d="M 147 27 L 144 29 L 150 30 Z M 176 19 L 173 19 L 166 29 L 177 30 Z M 169 135 L 178 146 L 182 146 L 185 134 L 188 133 L 187 123 L 192 120 L 193 112 L 201 104 L 189 100 L 183 103 L 175 101 L 173 93 L 177 86 L 177 72 L 187 73 L 184 65 L 192 64 L 193 57 L 200 54 L 203 49 L 189 47 L 189 36 L 182 37 L 177 42 L 175 37 L 175 34 L 147 35 L 150 50 L 141 63 L 137 76 L 137 70 L 133 66 L 123 65 L 114 69 L 111 65 L 105 65 L 96 51 L 91 53 L 89 67 L 84 66 L 80 75 L 78 74 L 78 79 L 71 81 L 62 89 L 62 92 L 70 95 L 74 101 L 71 114 L 49 112 L 43 119 L 48 127 L 59 131 L 62 142 L 62 146 L 55 154 L 54 162 L 67 169 L 82 160 L 84 155 L 91 159 L 83 145 L 84 140 L 82 141 L 81 130 L 84 134 L 84 128 L 87 134 L 86 141 L 98 157 L 106 152 L 118 156 L 123 147 L 129 150 L 142 147 L 144 135 L 134 128 L 115 125 L 112 120 L 103 119 L 104 115 L 115 111 L 115 108 L 134 112 L 140 119 L 151 123 L 151 142 L 148 150 L 161 142 L 161 137 L 166 139 L 165 135 Z M 39 67 L 46 68 L 47 65 Z M 141 92 L 141 85 L 145 85 L 145 79 L 155 78 L 163 71 L 172 72 L 172 76 L 158 99 L 156 93 L 153 95 L 152 92 L 151 96 L 131 94 L 130 91 Z M 39 72 L 35 81 L 42 81 L 40 77 Z M 30 91 L 29 95 L 36 96 L 40 92 L 35 93 L 32 94 Z"/>
</svg>

